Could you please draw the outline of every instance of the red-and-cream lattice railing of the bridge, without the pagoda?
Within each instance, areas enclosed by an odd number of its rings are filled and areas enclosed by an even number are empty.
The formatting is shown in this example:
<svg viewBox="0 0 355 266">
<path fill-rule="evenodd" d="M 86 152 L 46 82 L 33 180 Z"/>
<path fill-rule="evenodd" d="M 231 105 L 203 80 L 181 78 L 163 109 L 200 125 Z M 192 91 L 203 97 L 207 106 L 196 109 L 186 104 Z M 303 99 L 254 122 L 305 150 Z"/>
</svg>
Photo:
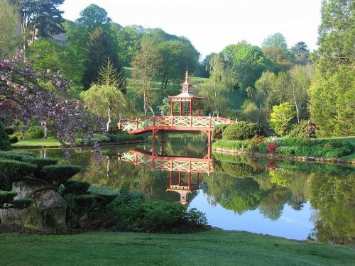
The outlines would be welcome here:
<svg viewBox="0 0 355 266">
<path fill-rule="evenodd" d="M 147 116 L 118 123 L 121 131 L 139 131 L 148 128 L 213 128 L 222 123 L 231 123 L 230 119 L 212 116 Z"/>
</svg>

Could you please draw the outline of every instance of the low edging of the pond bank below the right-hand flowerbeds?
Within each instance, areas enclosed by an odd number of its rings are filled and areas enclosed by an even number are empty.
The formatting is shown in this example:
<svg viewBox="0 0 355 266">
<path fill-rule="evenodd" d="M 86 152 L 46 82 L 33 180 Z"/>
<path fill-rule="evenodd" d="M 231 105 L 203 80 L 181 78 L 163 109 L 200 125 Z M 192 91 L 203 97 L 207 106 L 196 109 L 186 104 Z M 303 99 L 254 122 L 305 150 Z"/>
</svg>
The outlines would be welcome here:
<svg viewBox="0 0 355 266">
<path fill-rule="evenodd" d="M 231 148 L 212 148 L 216 153 L 226 154 L 226 155 L 245 155 L 251 157 L 267 157 L 274 160 L 295 160 L 301 162 L 325 162 L 333 164 L 342 164 L 342 165 L 355 165 L 355 161 L 341 160 L 339 158 L 318 158 L 310 156 L 287 156 L 282 153 L 255 153 L 244 150 L 236 150 Z"/>
</svg>

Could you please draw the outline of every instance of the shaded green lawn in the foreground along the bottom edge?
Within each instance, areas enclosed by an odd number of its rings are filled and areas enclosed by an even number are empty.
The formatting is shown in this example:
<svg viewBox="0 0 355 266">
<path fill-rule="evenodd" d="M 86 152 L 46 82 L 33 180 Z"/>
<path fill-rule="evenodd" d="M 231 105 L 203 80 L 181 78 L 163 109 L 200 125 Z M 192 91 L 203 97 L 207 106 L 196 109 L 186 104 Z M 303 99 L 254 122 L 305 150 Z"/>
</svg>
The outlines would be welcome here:
<svg viewBox="0 0 355 266">
<path fill-rule="evenodd" d="M 355 265 L 355 249 L 231 231 L 4 233 L 0 265 Z"/>
</svg>

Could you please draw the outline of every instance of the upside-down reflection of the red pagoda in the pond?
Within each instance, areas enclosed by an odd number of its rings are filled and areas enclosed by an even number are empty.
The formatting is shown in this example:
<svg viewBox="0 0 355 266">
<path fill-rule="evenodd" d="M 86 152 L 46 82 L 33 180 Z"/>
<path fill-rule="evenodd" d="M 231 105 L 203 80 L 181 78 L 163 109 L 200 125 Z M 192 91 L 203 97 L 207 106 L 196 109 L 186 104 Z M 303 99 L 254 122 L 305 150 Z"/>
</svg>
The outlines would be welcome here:
<svg viewBox="0 0 355 266">
<path fill-rule="evenodd" d="M 192 183 L 191 181 L 191 172 L 187 172 L 186 174 L 186 182 L 182 181 L 182 172 L 178 172 L 178 183 L 173 184 L 173 172 L 170 171 L 169 177 L 169 187 L 166 189 L 167 192 L 177 192 L 180 194 L 180 203 L 187 204 L 187 194 L 191 194 L 199 189 L 200 183 L 200 173 L 196 173 L 196 182 Z"/>
</svg>

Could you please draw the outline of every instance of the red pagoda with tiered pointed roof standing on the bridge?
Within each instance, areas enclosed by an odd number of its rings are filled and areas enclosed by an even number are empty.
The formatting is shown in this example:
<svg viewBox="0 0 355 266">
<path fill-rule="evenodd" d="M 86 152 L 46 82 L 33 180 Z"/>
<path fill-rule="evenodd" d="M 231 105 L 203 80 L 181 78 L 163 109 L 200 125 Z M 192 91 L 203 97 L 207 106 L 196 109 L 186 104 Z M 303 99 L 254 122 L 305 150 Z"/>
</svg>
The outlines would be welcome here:
<svg viewBox="0 0 355 266">
<path fill-rule="evenodd" d="M 170 105 L 171 105 L 171 111 L 170 115 L 174 116 L 174 104 L 179 103 L 180 104 L 180 111 L 179 111 L 179 116 L 184 116 L 183 112 L 183 107 L 184 104 L 188 104 L 188 113 L 185 114 L 187 116 L 193 116 L 194 115 L 194 104 L 197 103 L 197 115 L 201 116 L 201 101 L 202 97 L 195 96 L 191 92 L 192 84 L 190 83 L 189 79 L 189 72 L 187 71 L 186 68 L 186 74 L 185 74 L 185 82 L 181 84 L 182 86 L 182 92 L 178 95 L 175 96 L 168 96 L 170 99 Z"/>
</svg>

